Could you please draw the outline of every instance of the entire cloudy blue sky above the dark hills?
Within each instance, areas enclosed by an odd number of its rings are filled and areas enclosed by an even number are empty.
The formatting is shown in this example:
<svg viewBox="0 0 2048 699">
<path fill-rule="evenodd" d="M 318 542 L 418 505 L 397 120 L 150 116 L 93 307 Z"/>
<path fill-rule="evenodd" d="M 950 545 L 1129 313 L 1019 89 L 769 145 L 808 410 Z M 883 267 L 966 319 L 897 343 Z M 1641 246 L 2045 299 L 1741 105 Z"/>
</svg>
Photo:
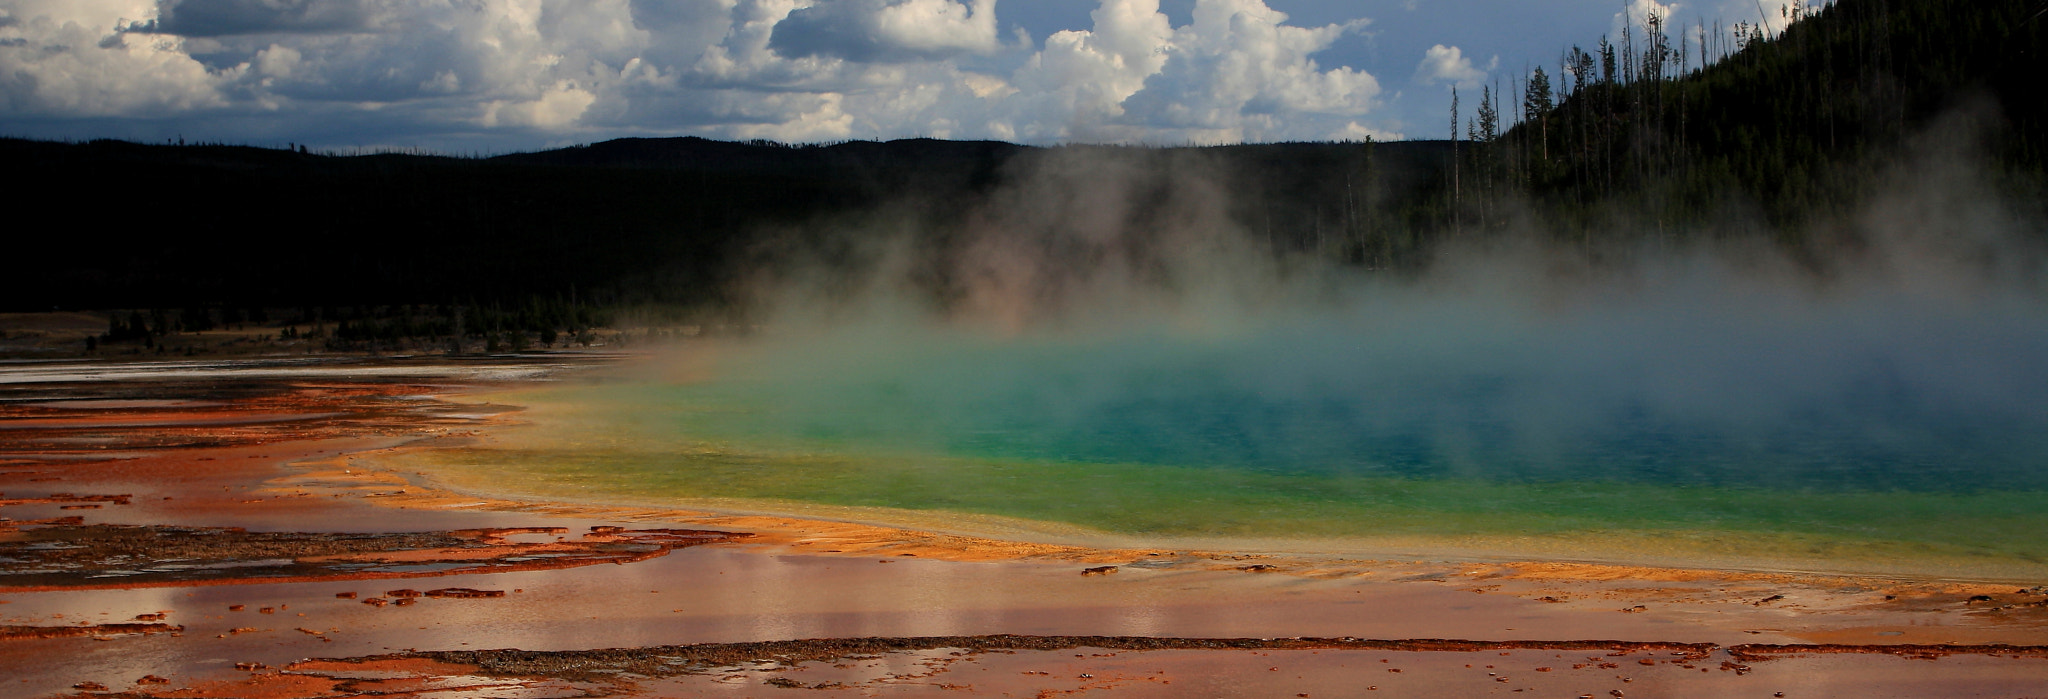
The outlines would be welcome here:
<svg viewBox="0 0 2048 699">
<path fill-rule="evenodd" d="M 1647 10 L 1792 0 L 0 0 L 0 135 L 502 154 L 1434 139 Z M 1507 109 L 1503 109 L 1505 113 Z"/>
</svg>

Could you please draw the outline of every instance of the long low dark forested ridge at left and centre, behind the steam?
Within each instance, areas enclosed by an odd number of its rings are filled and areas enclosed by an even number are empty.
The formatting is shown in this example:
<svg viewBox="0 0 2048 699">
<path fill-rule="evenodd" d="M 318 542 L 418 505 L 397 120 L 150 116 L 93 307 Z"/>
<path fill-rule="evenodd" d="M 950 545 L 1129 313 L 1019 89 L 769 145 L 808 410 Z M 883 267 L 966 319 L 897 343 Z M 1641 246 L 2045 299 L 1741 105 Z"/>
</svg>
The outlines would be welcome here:
<svg viewBox="0 0 2048 699">
<path fill-rule="evenodd" d="M 242 146 L 0 139 L 33 174 L 16 201 L 55 213 L 8 236 L 4 310 L 524 303 L 723 303 L 770 256 L 889 209 L 944 238 L 1042 162 L 1118 162 L 1153 197 L 1196 166 L 1276 248 L 1362 250 L 1366 193 L 1425 199 L 1448 143 L 1026 148 L 618 139 L 498 158 L 307 154 Z M 1374 166 L 1378 158 L 1380 166 Z M 1087 172 L 1083 172 L 1087 174 Z M 1149 195 L 1147 195 L 1149 191 Z M 1350 197 L 1350 199 L 1348 199 Z M 1141 215 L 1145 207 L 1135 207 Z M 1407 215 L 1384 213 L 1384 230 Z M 1421 221 L 1419 225 L 1427 225 Z M 1419 236 L 1378 250 L 1417 254 Z"/>
</svg>

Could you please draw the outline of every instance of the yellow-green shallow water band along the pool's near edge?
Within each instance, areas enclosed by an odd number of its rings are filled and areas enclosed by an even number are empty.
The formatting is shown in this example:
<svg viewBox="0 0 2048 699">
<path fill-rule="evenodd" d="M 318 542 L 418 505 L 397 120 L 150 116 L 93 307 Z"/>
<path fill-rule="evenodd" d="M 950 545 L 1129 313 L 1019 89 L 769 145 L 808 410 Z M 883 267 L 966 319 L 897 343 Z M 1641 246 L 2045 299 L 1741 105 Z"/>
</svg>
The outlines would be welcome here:
<svg viewBox="0 0 2048 699">
<path fill-rule="evenodd" d="M 770 510 L 786 500 L 979 512 L 1180 539 L 1479 537 L 1495 547 L 1499 539 L 1556 539 L 1546 549 L 1585 549 L 1585 558 L 1815 558 L 1878 568 L 1911 558 L 1985 570 L 2038 564 L 2048 549 L 2040 492 L 1491 484 L 711 449 L 487 449 L 424 459 L 532 494 L 629 502 L 752 498 Z M 1602 539 L 1612 549 L 1599 549 Z"/>
</svg>

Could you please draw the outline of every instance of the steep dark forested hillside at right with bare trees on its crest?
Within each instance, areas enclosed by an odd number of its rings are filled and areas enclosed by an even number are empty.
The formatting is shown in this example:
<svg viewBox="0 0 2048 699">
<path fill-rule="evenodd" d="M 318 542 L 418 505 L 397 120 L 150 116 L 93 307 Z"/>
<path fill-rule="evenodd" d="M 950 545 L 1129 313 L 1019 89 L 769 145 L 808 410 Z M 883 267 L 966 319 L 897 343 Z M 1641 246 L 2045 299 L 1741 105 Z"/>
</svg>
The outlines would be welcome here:
<svg viewBox="0 0 2048 699">
<path fill-rule="evenodd" d="M 1780 35 L 1706 27 L 1726 39 L 1683 43 L 1702 27 L 1653 16 L 1569 47 L 1542 80 L 1556 90 L 1522 86 L 1526 121 L 1475 150 L 1473 187 L 1534 193 L 1561 234 L 1761 213 L 1774 236 L 1796 238 L 1870 197 L 1913 143 L 1946 141 L 2015 199 L 2042 193 L 2048 0 L 1839 0 L 1788 14 Z"/>
</svg>

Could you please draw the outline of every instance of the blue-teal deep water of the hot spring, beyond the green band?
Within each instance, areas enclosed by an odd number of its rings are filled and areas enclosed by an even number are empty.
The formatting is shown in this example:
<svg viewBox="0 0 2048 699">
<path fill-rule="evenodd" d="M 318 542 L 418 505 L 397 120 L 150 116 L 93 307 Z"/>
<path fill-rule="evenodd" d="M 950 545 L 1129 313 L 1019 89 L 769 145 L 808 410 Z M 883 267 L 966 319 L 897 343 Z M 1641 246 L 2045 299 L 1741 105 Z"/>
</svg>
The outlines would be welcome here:
<svg viewBox="0 0 2048 699">
<path fill-rule="evenodd" d="M 2011 383 L 1958 396 L 1890 367 L 1888 348 L 1774 389 L 1726 375 L 1673 387 L 1636 359 L 1300 363 L 1282 348 L 1303 344 L 1288 340 L 1305 338 L 969 342 L 862 367 L 778 361 L 774 371 L 795 377 L 678 392 L 727 400 L 748 430 L 778 441 L 991 459 L 1804 490 L 2048 486 L 2048 344 L 2005 357 Z"/>
</svg>

